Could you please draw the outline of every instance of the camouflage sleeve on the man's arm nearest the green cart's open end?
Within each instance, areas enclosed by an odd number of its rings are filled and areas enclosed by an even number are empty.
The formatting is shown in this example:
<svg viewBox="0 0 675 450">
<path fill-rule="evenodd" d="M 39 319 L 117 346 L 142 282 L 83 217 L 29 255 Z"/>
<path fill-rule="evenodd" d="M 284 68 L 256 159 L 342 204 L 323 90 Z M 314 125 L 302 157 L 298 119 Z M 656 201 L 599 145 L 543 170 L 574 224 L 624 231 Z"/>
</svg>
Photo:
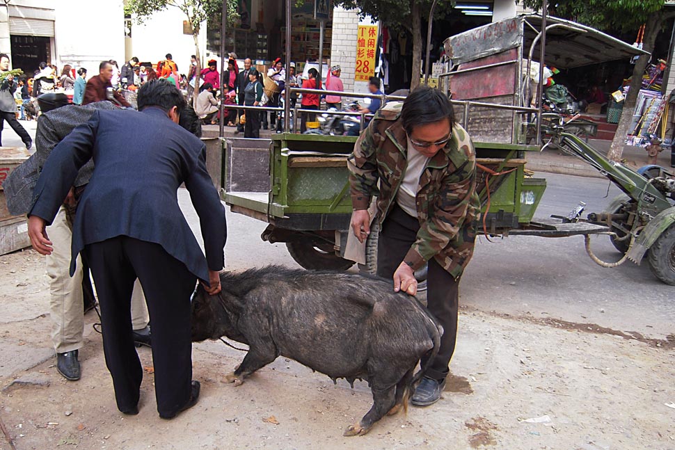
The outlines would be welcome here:
<svg viewBox="0 0 675 450">
<path fill-rule="evenodd" d="M 354 144 L 354 152 L 347 159 L 351 205 L 354 209 L 368 209 L 371 197 L 378 194 L 379 175 L 373 136 L 374 122 L 375 120 L 371 120 L 365 131 L 361 133 Z"/>
</svg>

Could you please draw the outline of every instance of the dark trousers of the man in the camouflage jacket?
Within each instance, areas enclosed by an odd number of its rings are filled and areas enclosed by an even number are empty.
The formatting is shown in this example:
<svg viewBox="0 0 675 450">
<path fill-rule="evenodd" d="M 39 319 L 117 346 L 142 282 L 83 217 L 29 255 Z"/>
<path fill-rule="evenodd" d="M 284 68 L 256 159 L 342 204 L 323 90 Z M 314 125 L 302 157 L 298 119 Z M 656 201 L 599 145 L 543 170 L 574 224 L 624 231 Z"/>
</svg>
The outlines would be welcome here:
<svg viewBox="0 0 675 450">
<path fill-rule="evenodd" d="M 417 218 L 410 216 L 398 205 L 382 224 L 377 243 L 377 275 L 391 280 L 397 267 L 415 242 L 420 229 Z M 427 310 L 443 326 L 440 350 L 424 373 L 429 378 L 442 380 L 447 376 L 448 366 L 457 339 L 459 314 L 459 279 L 454 280 L 435 259 L 429 259 L 427 272 Z M 426 364 L 422 360 L 422 367 Z"/>
</svg>

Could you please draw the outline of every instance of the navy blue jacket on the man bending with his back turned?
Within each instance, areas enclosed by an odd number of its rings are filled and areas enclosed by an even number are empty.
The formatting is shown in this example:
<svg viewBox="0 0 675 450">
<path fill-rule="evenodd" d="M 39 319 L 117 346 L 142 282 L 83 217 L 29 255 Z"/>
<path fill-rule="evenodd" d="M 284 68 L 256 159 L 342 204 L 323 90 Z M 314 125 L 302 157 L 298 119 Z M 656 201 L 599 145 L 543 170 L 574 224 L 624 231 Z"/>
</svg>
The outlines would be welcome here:
<svg viewBox="0 0 675 450">
<path fill-rule="evenodd" d="M 158 243 L 207 282 L 208 268 L 223 268 L 225 209 L 206 170 L 206 147 L 159 108 L 96 111 L 75 128 L 47 158 L 29 215 L 51 224 L 78 169 L 92 157 L 94 171 L 73 223 L 71 275 L 84 246 L 116 236 Z M 206 258 L 178 207 L 183 182 L 200 219 Z"/>
</svg>

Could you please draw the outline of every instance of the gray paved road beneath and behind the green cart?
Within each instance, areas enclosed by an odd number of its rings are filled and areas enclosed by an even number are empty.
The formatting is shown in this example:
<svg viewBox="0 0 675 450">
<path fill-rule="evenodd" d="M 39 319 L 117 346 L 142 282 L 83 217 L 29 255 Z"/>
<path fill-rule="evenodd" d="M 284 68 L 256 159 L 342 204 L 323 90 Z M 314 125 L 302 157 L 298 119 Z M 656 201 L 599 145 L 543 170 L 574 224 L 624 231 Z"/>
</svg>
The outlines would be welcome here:
<svg viewBox="0 0 675 450">
<path fill-rule="evenodd" d="M 580 200 L 587 203 L 587 211 L 601 211 L 619 193 L 611 186 L 605 198 L 608 183 L 603 179 L 537 176 L 548 180 L 537 217 L 566 214 Z M 187 198 L 186 191 L 181 190 L 182 204 L 189 203 Z M 186 214 L 198 233 L 193 211 Z M 298 267 L 283 243 L 272 245 L 260 239 L 265 226 L 228 209 L 228 268 L 241 270 L 264 264 Z M 593 249 L 608 261 L 619 257 L 607 236 L 597 236 Z M 656 280 L 646 263 L 636 266 L 627 262 L 618 268 L 596 265 L 586 254 L 581 236 L 509 236 L 495 243 L 479 239 L 461 283 L 461 302 L 485 311 L 529 313 L 664 337 L 675 333 L 674 290 Z"/>
</svg>

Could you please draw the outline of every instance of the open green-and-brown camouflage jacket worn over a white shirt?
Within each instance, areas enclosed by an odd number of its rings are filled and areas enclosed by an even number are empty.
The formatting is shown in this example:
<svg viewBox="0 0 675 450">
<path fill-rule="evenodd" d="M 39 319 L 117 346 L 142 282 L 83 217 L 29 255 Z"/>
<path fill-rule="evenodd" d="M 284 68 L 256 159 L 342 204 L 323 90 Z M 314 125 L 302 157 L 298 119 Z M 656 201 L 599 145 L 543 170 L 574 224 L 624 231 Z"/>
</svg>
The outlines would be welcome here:
<svg viewBox="0 0 675 450">
<path fill-rule="evenodd" d="M 367 209 L 376 195 L 379 223 L 396 201 L 406 170 L 408 139 L 399 120 L 402 103 L 380 109 L 347 160 L 354 209 Z M 429 159 L 416 197 L 420 230 L 405 262 L 413 270 L 432 257 L 455 279 L 473 255 L 480 214 L 475 186 L 476 156 L 466 131 L 455 124 L 452 138 Z M 379 184 L 378 184 L 379 182 Z"/>
</svg>

